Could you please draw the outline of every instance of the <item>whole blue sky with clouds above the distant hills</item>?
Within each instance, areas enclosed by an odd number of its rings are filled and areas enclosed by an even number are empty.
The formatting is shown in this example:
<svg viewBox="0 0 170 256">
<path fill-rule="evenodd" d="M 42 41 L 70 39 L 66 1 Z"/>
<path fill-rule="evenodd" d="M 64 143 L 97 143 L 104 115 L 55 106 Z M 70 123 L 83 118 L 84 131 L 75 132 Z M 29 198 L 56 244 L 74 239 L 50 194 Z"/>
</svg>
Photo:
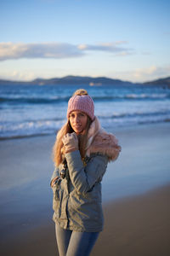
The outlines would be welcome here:
<svg viewBox="0 0 170 256">
<path fill-rule="evenodd" d="M 170 1 L 1 0 L 0 79 L 170 76 Z"/>
</svg>

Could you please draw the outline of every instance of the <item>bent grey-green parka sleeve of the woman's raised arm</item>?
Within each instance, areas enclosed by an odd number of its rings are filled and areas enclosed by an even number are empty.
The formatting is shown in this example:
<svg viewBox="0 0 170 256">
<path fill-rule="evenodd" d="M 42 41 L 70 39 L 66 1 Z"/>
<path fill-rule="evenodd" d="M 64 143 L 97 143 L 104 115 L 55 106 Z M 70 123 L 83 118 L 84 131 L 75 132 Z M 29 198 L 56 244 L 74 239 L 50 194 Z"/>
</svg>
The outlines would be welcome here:
<svg viewBox="0 0 170 256">
<path fill-rule="evenodd" d="M 100 182 L 105 174 L 108 158 L 102 154 L 94 155 L 87 166 L 83 166 L 79 150 L 65 154 L 71 183 L 81 193 L 87 193 L 94 183 Z"/>
</svg>

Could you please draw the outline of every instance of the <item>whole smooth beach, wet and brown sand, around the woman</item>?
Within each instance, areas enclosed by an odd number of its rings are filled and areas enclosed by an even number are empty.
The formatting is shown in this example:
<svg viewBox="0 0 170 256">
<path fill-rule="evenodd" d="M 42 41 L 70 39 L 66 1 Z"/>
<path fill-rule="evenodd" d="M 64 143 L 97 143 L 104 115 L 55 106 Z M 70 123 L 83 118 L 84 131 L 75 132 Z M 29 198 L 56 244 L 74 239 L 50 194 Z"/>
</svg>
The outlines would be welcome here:
<svg viewBox="0 0 170 256">
<path fill-rule="evenodd" d="M 122 154 L 103 181 L 105 229 L 92 256 L 170 254 L 169 128 L 115 132 Z M 0 142 L 2 255 L 58 255 L 48 186 L 53 143 L 54 136 Z"/>
</svg>

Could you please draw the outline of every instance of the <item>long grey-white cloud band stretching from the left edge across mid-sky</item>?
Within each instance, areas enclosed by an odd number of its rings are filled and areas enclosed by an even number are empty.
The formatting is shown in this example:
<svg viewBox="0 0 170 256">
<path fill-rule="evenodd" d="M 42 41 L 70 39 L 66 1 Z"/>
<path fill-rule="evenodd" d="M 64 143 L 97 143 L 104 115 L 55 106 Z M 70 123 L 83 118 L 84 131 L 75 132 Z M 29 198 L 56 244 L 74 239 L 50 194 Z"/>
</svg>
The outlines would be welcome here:
<svg viewBox="0 0 170 256">
<path fill-rule="evenodd" d="M 64 59 L 81 57 L 86 51 L 107 51 L 128 55 L 132 49 L 120 47 L 120 44 L 127 44 L 124 41 L 103 44 L 65 44 L 65 43 L 40 43 L 40 44 L 23 44 L 23 43 L 0 43 L 0 61 L 16 60 L 22 58 L 54 58 Z"/>
</svg>

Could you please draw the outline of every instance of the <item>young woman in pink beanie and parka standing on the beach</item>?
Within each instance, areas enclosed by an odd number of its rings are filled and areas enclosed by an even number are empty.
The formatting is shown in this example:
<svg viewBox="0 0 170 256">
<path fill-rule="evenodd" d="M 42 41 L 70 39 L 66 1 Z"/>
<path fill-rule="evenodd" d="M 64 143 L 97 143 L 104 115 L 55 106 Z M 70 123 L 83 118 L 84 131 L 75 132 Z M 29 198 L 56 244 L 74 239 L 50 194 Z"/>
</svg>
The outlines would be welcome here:
<svg viewBox="0 0 170 256">
<path fill-rule="evenodd" d="M 103 230 L 101 180 L 121 147 L 100 128 L 94 102 L 77 90 L 54 143 L 54 222 L 59 256 L 88 256 Z"/>
</svg>

